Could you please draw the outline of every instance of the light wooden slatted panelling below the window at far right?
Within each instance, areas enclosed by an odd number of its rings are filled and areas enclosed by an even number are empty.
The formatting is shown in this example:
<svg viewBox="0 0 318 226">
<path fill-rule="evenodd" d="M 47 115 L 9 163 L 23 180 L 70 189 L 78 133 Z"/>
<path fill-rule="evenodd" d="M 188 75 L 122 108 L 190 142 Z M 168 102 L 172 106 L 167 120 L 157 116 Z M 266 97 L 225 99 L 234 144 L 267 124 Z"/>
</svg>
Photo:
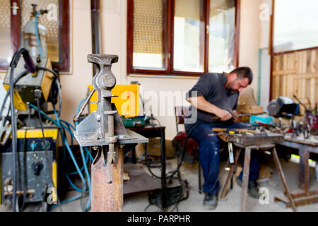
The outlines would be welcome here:
<svg viewBox="0 0 318 226">
<path fill-rule="evenodd" d="M 306 107 L 313 109 L 318 102 L 317 66 L 318 49 L 273 56 L 272 98 L 297 95 Z M 300 107 L 300 113 L 305 113 L 304 107 Z"/>
</svg>

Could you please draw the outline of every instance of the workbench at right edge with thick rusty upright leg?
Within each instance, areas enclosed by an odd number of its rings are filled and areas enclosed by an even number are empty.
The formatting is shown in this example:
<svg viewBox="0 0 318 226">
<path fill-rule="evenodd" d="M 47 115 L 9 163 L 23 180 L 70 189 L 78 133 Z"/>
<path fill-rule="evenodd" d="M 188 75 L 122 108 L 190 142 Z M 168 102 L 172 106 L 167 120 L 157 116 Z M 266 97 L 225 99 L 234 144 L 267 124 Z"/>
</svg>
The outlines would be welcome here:
<svg viewBox="0 0 318 226">
<path fill-rule="evenodd" d="M 299 186 L 304 192 L 292 193 L 291 196 L 294 199 L 295 206 L 305 206 L 312 203 L 318 203 L 318 190 L 310 191 L 310 166 L 309 159 L 310 153 L 318 154 L 318 137 L 310 136 L 305 139 L 303 134 L 298 137 L 293 137 L 292 134 L 288 133 L 284 136 L 284 142 L 280 145 L 284 145 L 288 148 L 298 149 L 300 156 L 299 164 Z M 287 208 L 290 208 L 289 203 L 283 198 L 275 197 L 274 201 L 283 201 Z"/>
</svg>

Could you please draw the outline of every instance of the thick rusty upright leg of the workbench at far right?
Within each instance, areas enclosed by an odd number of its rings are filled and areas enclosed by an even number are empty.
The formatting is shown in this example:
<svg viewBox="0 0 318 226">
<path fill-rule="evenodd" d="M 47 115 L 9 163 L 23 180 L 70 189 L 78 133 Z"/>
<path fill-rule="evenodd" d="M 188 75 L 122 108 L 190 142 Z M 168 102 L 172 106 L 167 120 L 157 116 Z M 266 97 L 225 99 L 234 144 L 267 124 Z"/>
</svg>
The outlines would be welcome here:
<svg viewBox="0 0 318 226">
<path fill-rule="evenodd" d="M 300 171 L 299 171 L 299 182 L 300 182 L 300 188 L 305 191 L 306 194 L 308 194 L 309 190 L 309 181 L 310 181 L 310 172 L 309 172 L 309 158 L 310 153 L 307 150 L 304 150 L 303 148 L 299 149 L 299 155 L 300 155 Z"/>
</svg>

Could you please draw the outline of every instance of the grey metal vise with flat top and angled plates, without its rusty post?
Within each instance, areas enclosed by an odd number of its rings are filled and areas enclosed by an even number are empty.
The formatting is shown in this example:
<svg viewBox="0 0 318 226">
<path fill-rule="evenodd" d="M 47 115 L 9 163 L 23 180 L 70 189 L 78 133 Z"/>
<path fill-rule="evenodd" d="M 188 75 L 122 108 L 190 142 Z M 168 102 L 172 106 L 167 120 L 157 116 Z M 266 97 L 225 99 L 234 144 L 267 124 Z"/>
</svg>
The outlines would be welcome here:
<svg viewBox="0 0 318 226">
<path fill-rule="evenodd" d="M 97 92 L 97 110 L 90 113 L 76 126 L 76 140 L 83 147 L 109 145 L 114 140 L 129 139 L 122 119 L 120 119 L 115 105 L 111 103 L 112 97 L 117 97 L 111 93 L 112 88 L 116 85 L 116 78 L 111 69 L 112 64 L 118 62 L 118 56 L 88 54 L 88 62 L 98 67 L 98 73 L 93 77 L 94 89 L 88 97 L 89 99 L 93 92 Z M 88 99 L 84 105 L 87 105 Z"/>
</svg>

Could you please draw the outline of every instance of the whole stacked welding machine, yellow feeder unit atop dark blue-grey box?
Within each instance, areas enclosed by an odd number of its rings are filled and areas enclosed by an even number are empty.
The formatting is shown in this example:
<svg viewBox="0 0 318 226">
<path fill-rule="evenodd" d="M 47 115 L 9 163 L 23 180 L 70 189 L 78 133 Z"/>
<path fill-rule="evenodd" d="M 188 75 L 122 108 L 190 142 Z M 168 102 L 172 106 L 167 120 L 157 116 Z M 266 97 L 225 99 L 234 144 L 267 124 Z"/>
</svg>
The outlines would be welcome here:
<svg viewBox="0 0 318 226">
<path fill-rule="evenodd" d="M 46 124 L 40 111 L 47 112 L 47 103 L 54 106 L 58 93 L 61 96 L 59 74 L 52 71 L 49 59 L 30 57 L 27 49 L 20 48 L 13 55 L 3 86 L 7 94 L 0 113 L 0 203 L 19 210 L 28 202 L 48 203 L 48 192 L 50 201 L 56 203 L 57 187 L 61 185 L 57 165 L 59 128 Z M 2 114 L 9 95 L 11 105 Z M 59 104 L 60 111 L 61 98 Z M 35 105 L 38 110 L 30 107 Z"/>
</svg>

